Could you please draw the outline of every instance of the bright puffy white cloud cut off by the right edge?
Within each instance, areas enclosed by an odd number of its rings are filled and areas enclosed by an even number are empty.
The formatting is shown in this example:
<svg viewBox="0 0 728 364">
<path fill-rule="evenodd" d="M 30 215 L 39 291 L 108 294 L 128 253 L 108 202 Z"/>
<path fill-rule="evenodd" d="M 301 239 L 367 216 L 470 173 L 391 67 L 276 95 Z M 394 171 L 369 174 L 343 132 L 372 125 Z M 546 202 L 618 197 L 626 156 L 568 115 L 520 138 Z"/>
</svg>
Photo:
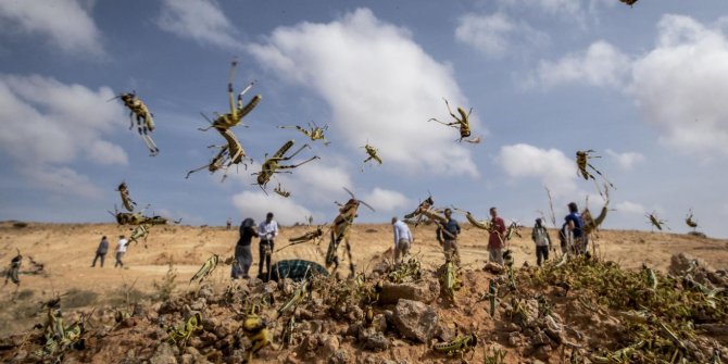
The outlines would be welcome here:
<svg viewBox="0 0 728 364">
<path fill-rule="evenodd" d="M 628 93 L 670 148 L 728 154 L 728 41 L 719 25 L 663 16 L 656 47 L 635 62 Z"/>
</svg>

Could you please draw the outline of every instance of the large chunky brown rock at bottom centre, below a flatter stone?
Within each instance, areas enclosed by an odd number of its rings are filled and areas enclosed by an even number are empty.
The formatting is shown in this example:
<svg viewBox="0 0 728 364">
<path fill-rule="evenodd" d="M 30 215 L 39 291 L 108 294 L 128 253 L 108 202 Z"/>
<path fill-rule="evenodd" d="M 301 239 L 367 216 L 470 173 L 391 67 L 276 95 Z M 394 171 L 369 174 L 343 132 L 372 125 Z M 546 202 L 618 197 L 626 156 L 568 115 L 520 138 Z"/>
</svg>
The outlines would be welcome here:
<svg viewBox="0 0 728 364">
<path fill-rule="evenodd" d="M 393 326 L 402 336 L 427 342 L 439 322 L 432 307 L 419 301 L 400 300 L 394 307 Z"/>
</svg>

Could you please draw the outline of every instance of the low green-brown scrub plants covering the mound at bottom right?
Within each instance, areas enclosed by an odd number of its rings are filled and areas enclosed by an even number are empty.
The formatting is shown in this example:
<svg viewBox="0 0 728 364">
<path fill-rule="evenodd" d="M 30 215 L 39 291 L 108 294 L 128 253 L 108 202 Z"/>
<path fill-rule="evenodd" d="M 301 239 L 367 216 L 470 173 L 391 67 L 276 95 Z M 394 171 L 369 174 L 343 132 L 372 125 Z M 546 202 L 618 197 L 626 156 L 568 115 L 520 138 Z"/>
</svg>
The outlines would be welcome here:
<svg viewBox="0 0 728 364">
<path fill-rule="evenodd" d="M 598 350 L 591 355 L 594 363 L 703 362 L 706 353 L 699 352 L 693 323 L 728 319 L 726 291 L 695 284 L 689 274 L 663 276 L 647 265 L 629 272 L 583 256 L 550 262 L 542 273 L 542 284 L 561 287 L 568 283 L 585 309 L 620 313 L 622 347 Z"/>
</svg>

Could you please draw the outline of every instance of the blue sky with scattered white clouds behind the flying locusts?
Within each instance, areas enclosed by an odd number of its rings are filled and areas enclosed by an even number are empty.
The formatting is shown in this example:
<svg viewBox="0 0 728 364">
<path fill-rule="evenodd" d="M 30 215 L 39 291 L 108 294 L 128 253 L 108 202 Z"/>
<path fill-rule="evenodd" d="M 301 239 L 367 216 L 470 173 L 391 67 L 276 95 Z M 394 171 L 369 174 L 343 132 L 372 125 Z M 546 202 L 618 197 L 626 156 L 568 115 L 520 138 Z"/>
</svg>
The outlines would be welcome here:
<svg viewBox="0 0 728 364">
<path fill-rule="evenodd" d="M 276 213 L 292 224 L 336 215 L 348 187 L 386 222 L 431 192 L 485 218 L 491 205 L 531 225 L 566 203 L 603 201 L 575 152 L 616 186 L 605 228 L 728 237 L 728 2 L 21 1 L 0 2 L 0 219 L 111 222 L 122 180 L 140 205 L 188 224 Z M 228 178 L 187 171 L 222 143 L 200 113 L 236 91 L 262 101 L 233 131 L 254 160 Z M 160 147 L 128 130 L 115 95 L 136 90 Z M 473 108 L 479 145 L 428 123 Z M 325 147 L 279 125 L 328 125 Z M 266 153 L 306 142 L 266 196 L 252 185 Z M 363 168 L 361 147 L 382 165 Z M 288 199 L 271 193 L 280 183 Z M 151 212 L 150 211 L 150 212 Z"/>
</svg>

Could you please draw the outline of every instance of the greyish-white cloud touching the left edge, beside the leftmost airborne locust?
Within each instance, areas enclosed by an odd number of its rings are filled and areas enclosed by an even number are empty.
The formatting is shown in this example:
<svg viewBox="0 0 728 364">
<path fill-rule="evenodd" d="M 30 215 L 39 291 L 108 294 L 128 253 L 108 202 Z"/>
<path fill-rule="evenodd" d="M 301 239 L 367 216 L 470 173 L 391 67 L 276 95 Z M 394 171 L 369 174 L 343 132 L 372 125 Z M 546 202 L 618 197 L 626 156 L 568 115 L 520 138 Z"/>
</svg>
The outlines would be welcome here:
<svg viewBox="0 0 728 364">
<path fill-rule="evenodd" d="M 128 163 L 126 153 L 101 139 L 124 114 L 108 87 L 93 91 L 41 76 L 0 74 L 0 149 L 18 164 L 70 163 L 79 154 L 100 164 Z"/>
</svg>

